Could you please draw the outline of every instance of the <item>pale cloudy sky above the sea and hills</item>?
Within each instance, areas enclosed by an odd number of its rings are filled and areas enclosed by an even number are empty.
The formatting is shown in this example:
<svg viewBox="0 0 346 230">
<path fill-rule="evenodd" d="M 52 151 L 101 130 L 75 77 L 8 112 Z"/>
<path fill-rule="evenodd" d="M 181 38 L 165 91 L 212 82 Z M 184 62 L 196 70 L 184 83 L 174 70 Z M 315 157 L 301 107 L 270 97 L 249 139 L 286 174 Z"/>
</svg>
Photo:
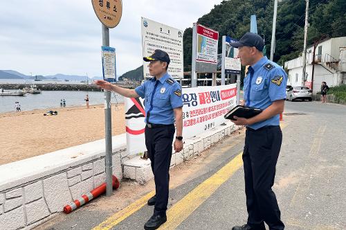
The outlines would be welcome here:
<svg viewBox="0 0 346 230">
<path fill-rule="evenodd" d="M 142 64 L 140 17 L 185 30 L 220 2 L 123 0 L 120 24 L 109 30 L 118 76 Z M 102 76 L 102 30 L 91 0 L 1 1 L 0 31 L 0 69 Z"/>
</svg>

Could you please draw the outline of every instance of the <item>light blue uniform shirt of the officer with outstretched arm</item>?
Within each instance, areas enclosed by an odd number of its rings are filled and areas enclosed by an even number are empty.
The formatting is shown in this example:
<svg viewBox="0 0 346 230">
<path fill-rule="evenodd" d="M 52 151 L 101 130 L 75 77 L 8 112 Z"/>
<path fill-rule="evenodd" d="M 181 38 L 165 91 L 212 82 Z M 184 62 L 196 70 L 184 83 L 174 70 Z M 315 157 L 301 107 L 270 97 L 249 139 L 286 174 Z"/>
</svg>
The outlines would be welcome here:
<svg viewBox="0 0 346 230">
<path fill-rule="evenodd" d="M 159 80 L 150 78 L 135 89 L 145 99 L 145 123 L 174 124 L 173 109 L 183 107 L 181 85 L 166 73 Z"/>
</svg>

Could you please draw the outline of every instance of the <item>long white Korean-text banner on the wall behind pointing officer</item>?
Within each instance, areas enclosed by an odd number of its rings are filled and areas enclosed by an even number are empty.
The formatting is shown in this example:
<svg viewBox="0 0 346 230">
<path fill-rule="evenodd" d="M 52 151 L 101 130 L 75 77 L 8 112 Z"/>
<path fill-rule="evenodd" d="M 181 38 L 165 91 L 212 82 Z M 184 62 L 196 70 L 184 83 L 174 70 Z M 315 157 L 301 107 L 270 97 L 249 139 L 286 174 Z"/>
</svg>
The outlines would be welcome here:
<svg viewBox="0 0 346 230">
<path fill-rule="evenodd" d="M 224 114 L 236 105 L 237 85 L 184 88 L 183 137 L 188 139 L 226 122 Z M 145 148 L 143 99 L 125 98 L 127 152 L 138 154 Z"/>
</svg>

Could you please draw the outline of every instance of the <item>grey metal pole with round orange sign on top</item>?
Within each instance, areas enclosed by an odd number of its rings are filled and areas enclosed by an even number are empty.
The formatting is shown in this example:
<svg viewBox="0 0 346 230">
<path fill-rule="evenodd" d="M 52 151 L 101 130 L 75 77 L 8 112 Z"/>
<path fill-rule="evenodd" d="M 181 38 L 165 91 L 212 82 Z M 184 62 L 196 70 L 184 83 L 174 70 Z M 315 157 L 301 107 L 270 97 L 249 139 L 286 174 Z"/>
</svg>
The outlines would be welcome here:
<svg viewBox="0 0 346 230">
<path fill-rule="evenodd" d="M 96 16 L 102 23 L 102 46 L 109 46 L 109 28 L 114 28 L 119 24 L 122 15 L 122 1 L 109 0 L 98 1 L 91 0 L 93 10 Z M 103 57 L 102 57 L 103 58 Z M 103 61 L 102 61 L 103 63 Z M 115 63 L 114 63 L 115 67 Z M 104 67 L 102 64 L 102 71 Z M 115 72 L 115 69 L 114 69 Z M 114 73 L 115 78 L 115 73 Z M 107 80 L 107 79 L 105 79 Z M 106 169 L 106 195 L 111 196 L 113 193 L 112 186 L 112 143 L 111 143 L 111 91 L 104 91 L 104 123 L 105 123 L 105 141 L 106 141 L 106 156 L 105 156 L 105 169 Z"/>
</svg>

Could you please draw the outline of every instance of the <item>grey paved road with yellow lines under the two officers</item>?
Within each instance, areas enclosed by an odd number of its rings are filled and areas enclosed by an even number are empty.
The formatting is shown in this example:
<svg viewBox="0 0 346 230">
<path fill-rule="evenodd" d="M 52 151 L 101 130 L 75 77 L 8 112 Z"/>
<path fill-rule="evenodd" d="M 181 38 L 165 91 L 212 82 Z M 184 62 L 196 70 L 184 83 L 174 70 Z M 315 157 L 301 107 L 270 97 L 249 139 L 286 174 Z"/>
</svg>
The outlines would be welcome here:
<svg viewBox="0 0 346 230">
<path fill-rule="evenodd" d="M 286 229 L 346 229 L 346 107 L 286 102 L 285 114 L 273 189 Z M 193 175 L 184 182 L 174 178 L 188 169 L 174 170 L 168 220 L 161 229 L 231 229 L 246 222 L 243 145 L 244 134 L 219 143 L 203 162 L 188 167 Z M 131 193 L 131 186 L 124 190 Z M 134 196 L 138 200 L 118 213 L 86 206 L 37 229 L 143 229 L 152 207 L 141 206 L 150 194 Z"/>
</svg>

